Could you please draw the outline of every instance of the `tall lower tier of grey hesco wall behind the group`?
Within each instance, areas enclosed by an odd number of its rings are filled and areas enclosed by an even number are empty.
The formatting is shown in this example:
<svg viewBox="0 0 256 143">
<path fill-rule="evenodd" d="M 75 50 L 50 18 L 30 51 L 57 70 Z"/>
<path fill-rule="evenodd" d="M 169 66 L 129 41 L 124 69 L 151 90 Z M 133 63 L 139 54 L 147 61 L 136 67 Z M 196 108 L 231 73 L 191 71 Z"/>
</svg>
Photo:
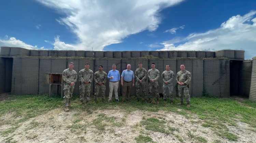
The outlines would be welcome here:
<svg viewBox="0 0 256 143">
<path fill-rule="evenodd" d="M 1 58 L 2 59 L 2 58 Z M 12 58 L 9 58 L 12 59 Z M 3 60 L 1 60 L 3 61 Z M 48 94 L 49 84 L 45 83 L 46 73 L 62 73 L 68 68 L 68 63 L 74 63 L 74 70 L 79 73 L 84 68 L 85 63 L 90 64 L 90 69 L 95 73 L 99 65 L 103 66 L 103 71 L 107 74 L 112 70 L 112 64 L 116 64 L 117 70 L 122 74 L 127 64 L 131 64 L 131 70 L 135 72 L 138 62 L 142 62 L 143 67 L 151 69 L 151 63 L 156 64 L 160 72 L 158 79 L 159 93 L 163 93 L 163 81 L 161 78 L 165 66 L 168 64 L 171 70 L 176 73 L 180 71 L 180 65 L 184 64 L 186 70 L 191 73 L 192 79 L 189 94 L 191 97 L 202 97 L 209 94 L 215 97 L 229 97 L 229 59 L 197 59 L 197 58 L 61 58 L 61 57 L 14 57 L 12 73 L 13 94 Z M 1 71 L 0 71 L 1 72 Z M 77 75 L 78 76 L 78 75 Z M 3 79 L 2 79 L 3 80 Z M 148 82 L 148 80 L 147 80 Z M 20 84 L 22 83 L 22 84 Z M 74 94 L 79 94 L 80 83 L 75 83 Z M 91 83 L 91 95 L 94 95 L 94 82 Z M 176 79 L 173 80 L 173 94 L 177 95 Z M 60 91 L 60 89 L 59 89 Z M 148 91 L 148 87 L 147 90 Z M 57 86 L 53 86 L 53 93 L 56 94 Z M 118 95 L 122 95 L 122 87 L 119 83 Z M 135 88 L 132 88 L 131 96 L 135 95 Z M 105 96 L 109 96 L 109 80 L 106 82 Z M 91 96 L 93 97 L 93 96 Z"/>
</svg>

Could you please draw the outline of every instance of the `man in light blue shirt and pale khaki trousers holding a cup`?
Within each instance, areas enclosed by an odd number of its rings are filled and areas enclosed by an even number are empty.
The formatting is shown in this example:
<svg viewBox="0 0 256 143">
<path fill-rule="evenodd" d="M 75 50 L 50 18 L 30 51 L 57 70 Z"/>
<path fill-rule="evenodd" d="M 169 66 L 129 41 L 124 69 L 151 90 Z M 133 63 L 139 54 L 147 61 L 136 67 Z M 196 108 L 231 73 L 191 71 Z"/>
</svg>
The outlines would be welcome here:
<svg viewBox="0 0 256 143">
<path fill-rule="evenodd" d="M 109 80 L 109 100 L 108 100 L 108 102 L 110 102 L 112 100 L 113 89 L 115 91 L 116 101 L 119 102 L 117 90 L 118 90 L 118 85 L 119 85 L 119 80 L 120 80 L 120 74 L 119 74 L 119 71 L 116 70 L 115 64 L 112 65 L 112 70 L 109 71 L 108 79 L 110 79 Z"/>
</svg>

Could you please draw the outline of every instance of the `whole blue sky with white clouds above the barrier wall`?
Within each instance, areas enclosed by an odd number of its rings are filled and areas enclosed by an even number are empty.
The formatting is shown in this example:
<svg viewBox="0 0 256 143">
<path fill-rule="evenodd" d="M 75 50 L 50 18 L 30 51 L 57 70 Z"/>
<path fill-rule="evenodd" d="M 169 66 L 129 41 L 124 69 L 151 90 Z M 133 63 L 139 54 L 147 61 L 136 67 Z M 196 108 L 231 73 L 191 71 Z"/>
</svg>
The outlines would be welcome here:
<svg viewBox="0 0 256 143">
<path fill-rule="evenodd" d="M 1 0 L 0 17 L 0 46 L 256 56 L 255 0 Z"/>
</svg>

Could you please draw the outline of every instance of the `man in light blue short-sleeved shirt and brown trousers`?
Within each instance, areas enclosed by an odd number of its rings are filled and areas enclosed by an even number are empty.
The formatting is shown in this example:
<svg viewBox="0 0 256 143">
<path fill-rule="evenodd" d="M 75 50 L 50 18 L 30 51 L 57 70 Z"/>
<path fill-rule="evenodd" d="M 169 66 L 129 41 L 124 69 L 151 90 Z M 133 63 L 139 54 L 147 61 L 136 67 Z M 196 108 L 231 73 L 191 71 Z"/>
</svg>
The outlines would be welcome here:
<svg viewBox="0 0 256 143">
<path fill-rule="evenodd" d="M 123 99 L 122 103 L 126 99 L 128 102 L 130 102 L 130 93 L 131 93 L 131 87 L 134 86 L 134 73 L 131 70 L 131 65 L 127 65 L 127 69 L 125 69 L 121 75 L 121 85 L 123 86 Z M 126 96 L 127 92 L 127 96 Z"/>
</svg>

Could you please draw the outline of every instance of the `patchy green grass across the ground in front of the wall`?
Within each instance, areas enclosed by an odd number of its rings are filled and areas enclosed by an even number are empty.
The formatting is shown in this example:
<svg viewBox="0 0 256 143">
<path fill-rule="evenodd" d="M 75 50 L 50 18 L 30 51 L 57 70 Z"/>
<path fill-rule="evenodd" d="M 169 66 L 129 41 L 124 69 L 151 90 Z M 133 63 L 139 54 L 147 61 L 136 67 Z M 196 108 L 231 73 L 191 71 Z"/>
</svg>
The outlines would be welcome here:
<svg viewBox="0 0 256 143">
<path fill-rule="evenodd" d="M 214 98 L 208 95 L 207 92 L 204 93 L 205 97 L 202 98 L 191 98 L 191 107 L 186 108 L 184 106 L 177 106 L 176 104 L 179 100 L 174 100 L 174 104 L 170 105 L 169 101 L 166 103 L 160 99 L 160 104 L 148 104 L 145 102 L 137 102 L 136 97 L 132 96 L 130 103 L 116 102 L 104 102 L 102 103 L 100 99 L 95 103 L 89 103 L 84 105 L 78 105 L 79 95 L 74 95 L 71 101 L 71 104 L 74 106 L 70 110 L 76 111 L 77 113 L 73 114 L 72 125 L 68 125 L 72 132 L 77 132 L 77 129 L 80 129 L 81 132 L 86 132 L 86 126 L 82 126 L 79 123 L 84 119 L 83 115 L 89 115 L 95 113 L 96 110 L 117 110 L 125 112 L 125 115 L 121 118 L 120 121 L 116 121 L 116 117 L 108 116 L 106 114 L 98 114 L 91 125 L 94 125 L 97 130 L 100 132 L 105 130 L 106 126 L 112 127 L 122 127 L 127 121 L 126 118 L 132 112 L 136 110 L 148 111 L 141 117 L 142 121 L 140 124 L 133 126 L 134 128 L 144 128 L 146 130 L 161 132 L 165 134 L 173 133 L 174 131 L 179 131 L 177 128 L 168 126 L 171 121 L 166 120 L 164 117 L 152 117 L 154 112 L 158 111 L 168 111 L 175 112 L 177 114 L 185 116 L 187 119 L 195 118 L 195 115 L 198 116 L 202 121 L 202 126 L 205 128 L 210 128 L 218 136 L 222 138 L 229 139 L 231 141 L 237 141 L 238 137 L 235 134 L 229 132 L 227 126 L 237 126 L 237 122 L 244 122 L 250 126 L 250 130 L 255 131 L 256 128 L 256 103 L 250 100 L 243 100 L 237 102 L 232 98 Z M 121 99 L 120 99 L 121 100 Z M 29 118 L 39 116 L 44 114 L 52 109 L 63 108 L 63 99 L 57 95 L 49 98 L 48 95 L 20 95 L 14 96 L 10 95 L 10 99 L 0 102 L 0 117 L 5 114 L 11 114 L 12 117 L 17 118 L 17 120 L 8 120 L 1 125 L 11 124 L 12 127 L 9 129 L 2 130 L 0 134 L 6 136 L 10 133 L 13 133 L 24 121 L 27 121 Z M 83 111 L 83 112 L 80 112 Z M 84 112 L 85 111 L 85 112 Z M 98 112 L 98 111 L 97 111 Z M 49 117 L 47 120 L 54 120 L 54 117 Z M 191 124 L 194 122 L 191 121 Z M 181 124 L 182 125 L 182 124 Z M 36 128 L 40 126 L 38 122 L 31 122 L 28 129 Z M 109 129 L 111 132 L 114 132 L 114 129 Z M 78 132 L 78 133 L 79 133 Z M 31 136 L 30 138 L 35 137 Z M 202 137 L 195 137 L 192 133 L 188 134 L 189 137 L 196 139 L 198 142 L 205 142 L 206 140 Z M 144 137 L 144 136 L 143 136 Z M 139 136 L 136 140 L 142 138 Z M 176 138 L 183 142 L 182 138 L 176 135 Z M 6 138 L 10 140 L 11 138 Z M 81 137 L 81 140 L 83 138 Z M 215 142 L 219 142 L 216 140 Z"/>
</svg>

